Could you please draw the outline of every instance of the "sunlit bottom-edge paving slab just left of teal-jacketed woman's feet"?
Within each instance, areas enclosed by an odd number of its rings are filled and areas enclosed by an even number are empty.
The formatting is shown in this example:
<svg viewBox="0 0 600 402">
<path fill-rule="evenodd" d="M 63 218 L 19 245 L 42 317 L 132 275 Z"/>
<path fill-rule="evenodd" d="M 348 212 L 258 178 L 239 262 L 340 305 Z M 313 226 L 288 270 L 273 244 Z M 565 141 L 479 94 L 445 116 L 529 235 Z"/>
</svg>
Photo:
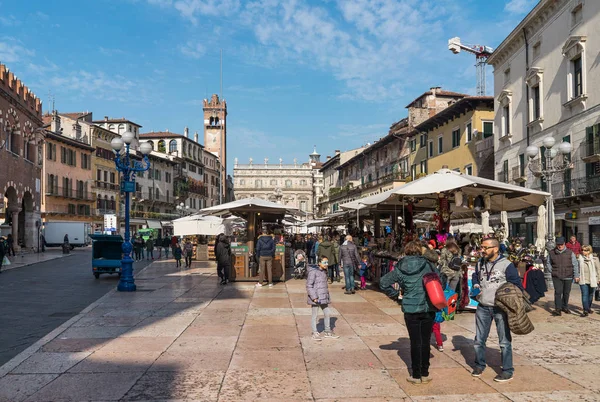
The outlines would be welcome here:
<svg viewBox="0 0 600 402">
<path fill-rule="evenodd" d="M 386 370 L 311 370 L 308 376 L 316 399 L 407 396 Z"/>
</svg>

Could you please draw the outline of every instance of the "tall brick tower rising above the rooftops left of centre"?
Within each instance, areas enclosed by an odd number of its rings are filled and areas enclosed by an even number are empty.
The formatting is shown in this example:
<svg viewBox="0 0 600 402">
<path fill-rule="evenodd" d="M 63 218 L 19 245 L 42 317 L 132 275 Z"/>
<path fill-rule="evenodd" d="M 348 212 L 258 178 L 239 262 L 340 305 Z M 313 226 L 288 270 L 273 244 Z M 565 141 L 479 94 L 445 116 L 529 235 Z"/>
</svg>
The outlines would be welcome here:
<svg viewBox="0 0 600 402">
<path fill-rule="evenodd" d="M 219 157 L 220 200 L 225 200 L 227 190 L 227 102 L 214 94 L 210 100 L 204 99 L 204 149 Z"/>
</svg>

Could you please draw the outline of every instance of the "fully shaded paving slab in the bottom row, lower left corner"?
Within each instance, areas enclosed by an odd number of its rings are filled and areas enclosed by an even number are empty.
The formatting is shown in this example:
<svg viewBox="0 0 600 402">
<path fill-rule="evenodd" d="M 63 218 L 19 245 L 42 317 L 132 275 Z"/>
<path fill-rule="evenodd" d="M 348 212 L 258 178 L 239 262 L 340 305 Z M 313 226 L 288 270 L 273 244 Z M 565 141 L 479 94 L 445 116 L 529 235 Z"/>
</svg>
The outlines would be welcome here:
<svg viewBox="0 0 600 402">
<path fill-rule="evenodd" d="M 28 402 L 118 401 L 141 372 L 66 373 L 27 399 Z"/>
</svg>

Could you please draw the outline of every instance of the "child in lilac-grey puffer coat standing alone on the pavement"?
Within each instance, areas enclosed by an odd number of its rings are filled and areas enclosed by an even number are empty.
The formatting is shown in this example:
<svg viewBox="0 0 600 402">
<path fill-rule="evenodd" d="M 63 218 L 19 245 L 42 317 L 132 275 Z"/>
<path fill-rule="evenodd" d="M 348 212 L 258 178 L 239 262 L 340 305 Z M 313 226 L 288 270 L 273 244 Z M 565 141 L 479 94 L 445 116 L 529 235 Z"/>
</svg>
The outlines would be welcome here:
<svg viewBox="0 0 600 402">
<path fill-rule="evenodd" d="M 309 266 L 308 277 L 306 278 L 306 293 L 307 303 L 311 306 L 312 310 L 312 339 L 314 341 L 321 341 L 323 338 L 337 339 L 338 335 L 334 334 L 331 329 L 331 309 L 329 303 L 331 298 L 329 296 L 329 289 L 327 288 L 327 269 L 329 268 L 329 262 L 327 257 L 322 257 L 318 266 Z M 321 335 L 317 329 L 317 318 L 319 316 L 319 310 L 323 310 L 325 331 Z"/>
</svg>

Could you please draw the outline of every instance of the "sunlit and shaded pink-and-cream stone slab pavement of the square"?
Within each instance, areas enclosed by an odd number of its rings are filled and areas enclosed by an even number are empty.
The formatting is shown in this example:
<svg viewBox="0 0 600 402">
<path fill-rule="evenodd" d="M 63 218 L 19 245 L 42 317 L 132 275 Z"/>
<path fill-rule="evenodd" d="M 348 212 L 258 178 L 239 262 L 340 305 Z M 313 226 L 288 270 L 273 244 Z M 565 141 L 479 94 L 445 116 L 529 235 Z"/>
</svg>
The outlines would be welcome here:
<svg viewBox="0 0 600 402">
<path fill-rule="evenodd" d="M 212 264 L 176 270 L 161 261 L 137 284 L 135 293 L 108 293 L 0 367 L 0 400 L 600 400 L 598 314 L 551 317 L 539 303 L 530 315 L 536 330 L 514 337 L 515 378 L 506 384 L 492 380 L 495 334 L 491 367 L 471 377 L 474 314 L 457 315 L 442 324 L 445 351 L 432 349 L 433 382 L 410 385 L 400 307 L 377 291 L 344 295 L 335 283 L 341 338 L 317 343 L 302 280 L 223 287 Z"/>
</svg>

